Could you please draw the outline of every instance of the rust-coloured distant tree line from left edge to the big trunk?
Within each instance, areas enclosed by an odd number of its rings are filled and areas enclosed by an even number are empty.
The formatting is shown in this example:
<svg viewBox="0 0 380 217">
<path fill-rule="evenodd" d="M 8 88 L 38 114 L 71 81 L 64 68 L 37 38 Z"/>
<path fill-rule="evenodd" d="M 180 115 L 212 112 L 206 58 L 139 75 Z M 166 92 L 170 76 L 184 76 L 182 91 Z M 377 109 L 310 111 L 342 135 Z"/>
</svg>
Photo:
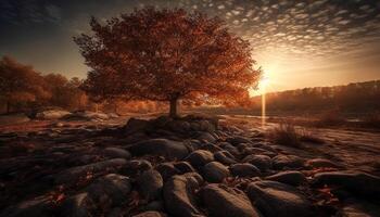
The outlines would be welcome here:
<svg viewBox="0 0 380 217">
<path fill-rule="evenodd" d="M 30 112 L 42 107 L 64 110 L 101 110 L 116 113 L 154 112 L 165 105 L 150 101 L 93 101 L 81 90 L 83 80 L 61 74 L 40 74 L 33 66 L 10 56 L 0 59 L 0 114 Z"/>
</svg>

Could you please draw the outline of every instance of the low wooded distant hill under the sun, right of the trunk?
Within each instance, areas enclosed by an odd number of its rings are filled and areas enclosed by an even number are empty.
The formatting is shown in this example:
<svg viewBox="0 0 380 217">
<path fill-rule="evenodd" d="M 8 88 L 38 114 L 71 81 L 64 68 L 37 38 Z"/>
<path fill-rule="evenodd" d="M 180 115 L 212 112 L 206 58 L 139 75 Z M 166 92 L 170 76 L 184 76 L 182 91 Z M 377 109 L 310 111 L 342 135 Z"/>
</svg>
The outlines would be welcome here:
<svg viewBox="0 0 380 217">
<path fill-rule="evenodd" d="M 259 114 L 261 95 L 252 98 L 249 108 L 201 107 L 216 114 Z M 266 107 L 276 113 L 320 113 L 338 110 L 342 113 L 380 112 L 380 80 L 353 82 L 344 86 L 314 87 L 266 94 Z"/>
</svg>

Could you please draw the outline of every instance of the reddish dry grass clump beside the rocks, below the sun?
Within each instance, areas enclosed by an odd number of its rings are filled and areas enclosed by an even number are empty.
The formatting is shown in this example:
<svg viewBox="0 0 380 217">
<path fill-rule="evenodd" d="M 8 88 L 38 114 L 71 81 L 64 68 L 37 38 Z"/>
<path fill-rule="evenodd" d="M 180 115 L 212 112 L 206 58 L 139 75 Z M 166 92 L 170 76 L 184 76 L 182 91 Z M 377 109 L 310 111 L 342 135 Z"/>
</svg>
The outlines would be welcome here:
<svg viewBox="0 0 380 217">
<path fill-rule="evenodd" d="M 312 131 L 306 129 L 295 129 L 289 123 L 281 123 L 267 133 L 267 137 L 278 144 L 301 149 L 303 142 L 322 144 L 325 141 L 316 137 Z"/>
</svg>

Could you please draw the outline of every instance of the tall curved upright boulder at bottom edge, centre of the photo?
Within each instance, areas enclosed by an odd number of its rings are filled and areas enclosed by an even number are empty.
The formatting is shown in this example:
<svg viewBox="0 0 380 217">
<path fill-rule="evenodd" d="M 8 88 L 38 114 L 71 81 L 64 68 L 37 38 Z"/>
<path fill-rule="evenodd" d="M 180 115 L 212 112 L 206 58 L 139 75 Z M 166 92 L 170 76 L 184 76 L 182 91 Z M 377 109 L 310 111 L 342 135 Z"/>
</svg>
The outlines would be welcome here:
<svg viewBox="0 0 380 217">
<path fill-rule="evenodd" d="M 195 173 L 174 176 L 164 184 L 164 203 L 173 216 L 205 217 L 198 207 L 195 191 L 202 184 L 202 177 Z"/>
</svg>

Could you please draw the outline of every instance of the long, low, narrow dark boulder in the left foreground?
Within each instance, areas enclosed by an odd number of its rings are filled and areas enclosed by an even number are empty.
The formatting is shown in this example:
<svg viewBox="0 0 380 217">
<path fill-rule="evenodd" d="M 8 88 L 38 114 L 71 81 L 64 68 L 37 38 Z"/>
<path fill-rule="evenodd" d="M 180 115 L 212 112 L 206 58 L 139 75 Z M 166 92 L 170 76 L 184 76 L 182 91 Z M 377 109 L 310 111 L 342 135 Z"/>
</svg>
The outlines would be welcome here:
<svg viewBox="0 0 380 217">
<path fill-rule="evenodd" d="M 61 171 L 54 178 L 56 184 L 73 184 L 87 176 L 88 173 L 97 174 L 105 170 L 116 170 L 127 164 L 124 158 L 113 158 L 93 164 L 72 167 Z"/>
</svg>

